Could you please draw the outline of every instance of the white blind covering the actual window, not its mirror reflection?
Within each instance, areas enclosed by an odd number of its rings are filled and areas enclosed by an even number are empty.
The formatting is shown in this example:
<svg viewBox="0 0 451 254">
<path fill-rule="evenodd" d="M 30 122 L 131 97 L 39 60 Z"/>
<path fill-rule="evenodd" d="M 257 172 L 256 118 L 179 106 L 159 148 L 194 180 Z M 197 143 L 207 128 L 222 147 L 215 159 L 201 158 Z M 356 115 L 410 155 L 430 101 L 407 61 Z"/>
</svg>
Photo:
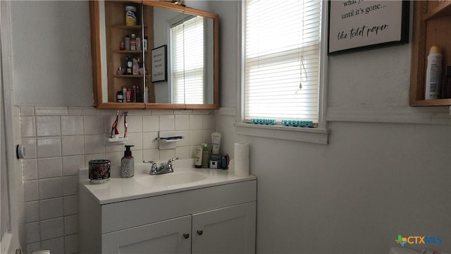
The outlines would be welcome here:
<svg viewBox="0 0 451 254">
<path fill-rule="evenodd" d="M 245 121 L 318 123 L 321 2 L 245 1 Z"/>
</svg>

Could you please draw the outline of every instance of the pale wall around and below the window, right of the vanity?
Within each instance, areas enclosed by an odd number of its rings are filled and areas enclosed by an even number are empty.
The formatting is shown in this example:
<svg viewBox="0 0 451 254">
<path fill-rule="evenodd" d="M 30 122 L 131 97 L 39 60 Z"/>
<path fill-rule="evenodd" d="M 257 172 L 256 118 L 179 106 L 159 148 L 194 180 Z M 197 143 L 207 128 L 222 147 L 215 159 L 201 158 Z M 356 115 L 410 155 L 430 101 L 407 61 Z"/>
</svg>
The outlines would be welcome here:
<svg viewBox="0 0 451 254">
<path fill-rule="evenodd" d="M 224 107 L 216 131 L 228 152 L 251 144 L 257 252 L 388 253 L 398 234 L 442 236 L 406 247 L 449 252 L 450 116 L 408 106 L 411 44 L 328 58 L 329 145 L 237 135 L 238 4 L 214 1 Z"/>
</svg>

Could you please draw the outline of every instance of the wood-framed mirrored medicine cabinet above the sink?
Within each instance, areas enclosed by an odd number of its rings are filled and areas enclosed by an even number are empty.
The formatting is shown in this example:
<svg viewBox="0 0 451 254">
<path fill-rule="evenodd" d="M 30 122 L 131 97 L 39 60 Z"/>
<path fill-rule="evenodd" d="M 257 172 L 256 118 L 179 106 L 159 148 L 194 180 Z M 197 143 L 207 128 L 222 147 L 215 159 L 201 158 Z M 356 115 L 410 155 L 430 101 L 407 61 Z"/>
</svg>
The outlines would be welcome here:
<svg viewBox="0 0 451 254">
<path fill-rule="evenodd" d="M 90 4 L 98 108 L 218 108 L 217 14 L 165 1 Z"/>
</svg>

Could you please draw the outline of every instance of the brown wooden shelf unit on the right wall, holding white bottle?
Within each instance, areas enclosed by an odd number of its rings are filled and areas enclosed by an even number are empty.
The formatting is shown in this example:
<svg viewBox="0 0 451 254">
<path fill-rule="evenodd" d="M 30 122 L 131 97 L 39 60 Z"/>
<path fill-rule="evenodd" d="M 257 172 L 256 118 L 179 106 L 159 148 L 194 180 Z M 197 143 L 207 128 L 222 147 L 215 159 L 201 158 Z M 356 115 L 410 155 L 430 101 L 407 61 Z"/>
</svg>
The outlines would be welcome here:
<svg viewBox="0 0 451 254">
<path fill-rule="evenodd" d="M 424 99 L 429 49 L 438 46 L 443 53 L 443 69 L 451 66 L 451 1 L 412 1 L 412 68 L 410 106 L 448 106 L 451 98 Z"/>
</svg>

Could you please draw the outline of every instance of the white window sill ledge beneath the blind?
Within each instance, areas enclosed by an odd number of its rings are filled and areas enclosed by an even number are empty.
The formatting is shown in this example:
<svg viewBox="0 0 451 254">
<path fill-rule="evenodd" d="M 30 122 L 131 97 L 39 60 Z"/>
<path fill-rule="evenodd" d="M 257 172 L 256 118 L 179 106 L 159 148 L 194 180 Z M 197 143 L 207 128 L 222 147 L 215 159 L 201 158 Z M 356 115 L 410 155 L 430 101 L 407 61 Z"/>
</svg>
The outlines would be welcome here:
<svg viewBox="0 0 451 254">
<path fill-rule="evenodd" d="M 275 138 L 315 144 L 328 144 L 328 130 L 287 126 L 264 126 L 252 123 L 235 123 L 237 134 L 262 138 Z"/>
</svg>

